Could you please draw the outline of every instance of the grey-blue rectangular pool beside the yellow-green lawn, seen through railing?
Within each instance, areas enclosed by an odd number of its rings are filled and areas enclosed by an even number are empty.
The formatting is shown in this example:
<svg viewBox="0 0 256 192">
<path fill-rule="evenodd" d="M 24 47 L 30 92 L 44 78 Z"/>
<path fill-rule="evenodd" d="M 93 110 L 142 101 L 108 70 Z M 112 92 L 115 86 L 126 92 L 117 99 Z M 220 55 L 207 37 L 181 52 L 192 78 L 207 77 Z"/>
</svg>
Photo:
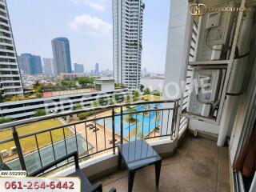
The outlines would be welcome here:
<svg viewBox="0 0 256 192">
<path fill-rule="evenodd" d="M 82 138 L 80 134 L 77 134 L 77 139 L 78 139 L 78 153 L 79 154 L 86 153 L 86 150 L 87 150 L 86 140 Z M 88 142 L 88 150 L 92 148 L 93 146 Z M 54 143 L 54 149 L 52 146 L 46 146 L 39 150 L 42 158 L 42 166 L 46 166 L 50 162 L 54 162 L 54 154 L 55 154 L 55 158 L 58 159 L 58 158 L 62 158 L 66 154 L 70 154 L 75 150 L 77 150 L 77 146 L 76 146 L 76 141 L 74 136 L 70 138 L 66 138 L 66 147 L 65 147 L 65 142 L 63 140 L 60 142 Z M 42 167 L 40 163 L 38 151 L 30 154 L 26 154 L 24 156 L 24 159 L 25 159 L 26 169 L 28 174 Z M 10 167 L 11 170 L 22 169 L 18 158 L 14 159 L 13 161 L 7 162 L 6 164 Z"/>
</svg>

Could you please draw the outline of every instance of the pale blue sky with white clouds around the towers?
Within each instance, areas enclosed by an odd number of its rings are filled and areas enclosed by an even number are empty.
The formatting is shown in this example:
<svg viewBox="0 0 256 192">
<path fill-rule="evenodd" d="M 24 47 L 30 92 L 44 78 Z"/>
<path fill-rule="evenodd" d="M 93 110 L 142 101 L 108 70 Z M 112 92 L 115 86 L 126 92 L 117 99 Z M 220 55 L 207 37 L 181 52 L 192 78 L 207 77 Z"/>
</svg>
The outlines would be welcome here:
<svg viewBox="0 0 256 192">
<path fill-rule="evenodd" d="M 51 40 L 70 40 L 71 62 L 113 70 L 112 0 L 7 0 L 18 54 L 53 58 Z M 142 68 L 162 73 L 170 0 L 143 0 Z M 161 2 L 161 3 L 159 3 Z"/>
</svg>

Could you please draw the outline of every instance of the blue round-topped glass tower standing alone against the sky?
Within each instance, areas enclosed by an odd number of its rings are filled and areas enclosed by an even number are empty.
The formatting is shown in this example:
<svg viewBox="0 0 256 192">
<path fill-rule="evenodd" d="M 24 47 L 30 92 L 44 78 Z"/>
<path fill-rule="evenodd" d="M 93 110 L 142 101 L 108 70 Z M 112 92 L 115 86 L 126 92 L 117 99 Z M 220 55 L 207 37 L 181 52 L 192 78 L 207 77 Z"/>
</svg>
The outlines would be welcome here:
<svg viewBox="0 0 256 192">
<path fill-rule="evenodd" d="M 67 38 L 54 38 L 51 45 L 54 55 L 54 75 L 72 73 L 69 40 Z"/>
</svg>

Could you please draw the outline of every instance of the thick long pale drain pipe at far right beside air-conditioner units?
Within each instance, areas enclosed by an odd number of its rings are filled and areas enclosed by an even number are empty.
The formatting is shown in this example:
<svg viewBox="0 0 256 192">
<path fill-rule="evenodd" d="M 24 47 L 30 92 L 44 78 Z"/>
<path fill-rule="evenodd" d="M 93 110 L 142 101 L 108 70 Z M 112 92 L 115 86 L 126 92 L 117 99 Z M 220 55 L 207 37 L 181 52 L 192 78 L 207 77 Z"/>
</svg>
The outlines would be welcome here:
<svg viewBox="0 0 256 192">
<path fill-rule="evenodd" d="M 250 31 L 254 22 L 254 13 L 246 13 L 242 18 L 240 38 L 238 40 L 239 56 L 250 51 Z M 234 60 L 232 72 L 230 74 L 229 86 L 226 93 L 226 102 L 222 112 L 220 130 L 218 134 L 218 146 L 224 146 L 226 135 L 234 126 L 234 120 L 238 111 L 238 103 L 242 94 L 243 80 L 245 78 L 248 65 L 248 58 L 238 58 Z"/>
</svg>

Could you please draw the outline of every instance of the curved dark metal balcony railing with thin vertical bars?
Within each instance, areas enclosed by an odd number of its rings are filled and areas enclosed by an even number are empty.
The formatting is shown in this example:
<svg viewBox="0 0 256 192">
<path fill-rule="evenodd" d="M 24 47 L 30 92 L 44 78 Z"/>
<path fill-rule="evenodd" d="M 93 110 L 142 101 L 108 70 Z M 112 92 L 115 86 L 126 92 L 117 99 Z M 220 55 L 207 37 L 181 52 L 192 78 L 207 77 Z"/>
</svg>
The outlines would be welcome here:
<svg viewBox="0 0 256 192">
<path fill-rule="evenodd" d="M 179 100 L 133 102 L 50 114 L 2 124 L 0 130 L 11 129 L 12 138 L 0 141 L 0 146 L 14 142 L 17 150 L 11 158 L 6 157 L 2 160 L 12 169 L 27 170 L 30 174 L 74 150 L 78 150 L 80 160 L 86 160 L 104 154 L 107 150 L 115 154 L 116 147 L 120 143 L 138 138 L 173 140 L 178 138 L 178 131 L 186 126 L 184 118 L 177 123 L 179 106 Z M 18 134 L 18 129 L 24 129 L 24 125 L 33 122 L 63 117 L 74 118 L 86 112 L 94 115 L 82 121 L 65 123 L 50 129 Z M 57 131 L 58 134 L 62 133 L 61 138 L 54 138 Z M 32 141 L 30 151 L 25 151 L 24 143 L 28 138 Z M 49 142 L 42 143 L 46 138 Z M 56 169 L 71 162 L 73 160 Z"/>
</svg>

